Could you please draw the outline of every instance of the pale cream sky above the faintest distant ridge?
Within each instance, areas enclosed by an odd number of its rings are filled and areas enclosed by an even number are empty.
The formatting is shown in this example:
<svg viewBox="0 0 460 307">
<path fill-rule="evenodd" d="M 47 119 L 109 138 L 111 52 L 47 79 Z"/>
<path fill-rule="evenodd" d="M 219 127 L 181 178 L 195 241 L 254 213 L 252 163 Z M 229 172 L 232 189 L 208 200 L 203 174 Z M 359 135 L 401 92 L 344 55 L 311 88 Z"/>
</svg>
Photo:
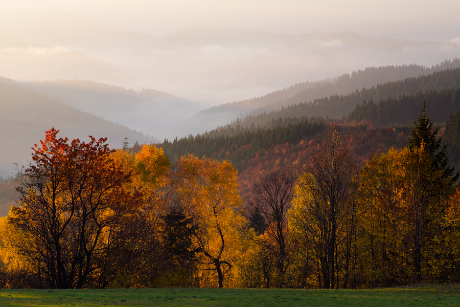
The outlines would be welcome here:
<svg viewBox="0 0 460 307">
<path fill-rule="evenodd" d="M 188 26 L 290 34 L 352 31 L 429 41 L 460 36 L 458 0 L 2 1 L 2 10 L 9 8 L 61 10 L 158 36 Z"/>
</svg>

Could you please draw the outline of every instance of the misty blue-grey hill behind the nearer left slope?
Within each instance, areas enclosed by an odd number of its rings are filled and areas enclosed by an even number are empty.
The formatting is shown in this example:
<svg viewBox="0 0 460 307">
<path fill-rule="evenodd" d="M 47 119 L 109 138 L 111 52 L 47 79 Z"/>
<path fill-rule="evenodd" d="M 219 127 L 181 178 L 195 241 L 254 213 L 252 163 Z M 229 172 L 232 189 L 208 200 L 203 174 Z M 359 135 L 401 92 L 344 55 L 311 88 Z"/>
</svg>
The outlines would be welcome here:
<svg viewBox="0 0 460 307">
<path fill-rule="evenodd" d="M 27 82 L 34 91 L 63 101 L 84 112 L 117 122 L 158 139 L 187 135 L 182 121 L 201 105 L 166 92 L 134 91 L 85 80 Z"/>
</svg>

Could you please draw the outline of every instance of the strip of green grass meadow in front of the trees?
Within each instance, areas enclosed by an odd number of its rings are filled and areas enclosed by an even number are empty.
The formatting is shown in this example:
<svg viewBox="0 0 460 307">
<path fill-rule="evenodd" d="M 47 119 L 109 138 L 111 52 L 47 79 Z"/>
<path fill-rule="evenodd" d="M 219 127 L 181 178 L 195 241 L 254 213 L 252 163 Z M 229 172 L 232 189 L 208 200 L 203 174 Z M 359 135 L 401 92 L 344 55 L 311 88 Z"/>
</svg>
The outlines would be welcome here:
<svg viewBox="0 0 460 307">
<path fill-rule="evenodd" d="M 0 290 L 1 306 L 458 306 L 460 285 L 366 290 Z"/>
</svg>

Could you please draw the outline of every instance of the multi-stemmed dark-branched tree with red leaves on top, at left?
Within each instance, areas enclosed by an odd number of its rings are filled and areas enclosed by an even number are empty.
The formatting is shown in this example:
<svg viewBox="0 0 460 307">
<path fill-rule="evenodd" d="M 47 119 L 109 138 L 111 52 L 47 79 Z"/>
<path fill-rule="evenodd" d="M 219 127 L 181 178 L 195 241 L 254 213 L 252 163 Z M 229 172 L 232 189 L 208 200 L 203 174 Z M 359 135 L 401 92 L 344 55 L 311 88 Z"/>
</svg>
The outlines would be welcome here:
<svg viewBox="0 0 460 307">
<path fill-rule="evenodd" d="M 22 255 L 45 276 L 48 287 L 83 288 L 94 280 L 108 252 L 110 229 L 142 204 L 141 193 L 125 191 L 131 180 L 109 155 L 106 139 L 57 138 L 45 131 L 32 162 L 18 174 L 17 206 L 9 217 L 27 234 Z"/>
</svg>

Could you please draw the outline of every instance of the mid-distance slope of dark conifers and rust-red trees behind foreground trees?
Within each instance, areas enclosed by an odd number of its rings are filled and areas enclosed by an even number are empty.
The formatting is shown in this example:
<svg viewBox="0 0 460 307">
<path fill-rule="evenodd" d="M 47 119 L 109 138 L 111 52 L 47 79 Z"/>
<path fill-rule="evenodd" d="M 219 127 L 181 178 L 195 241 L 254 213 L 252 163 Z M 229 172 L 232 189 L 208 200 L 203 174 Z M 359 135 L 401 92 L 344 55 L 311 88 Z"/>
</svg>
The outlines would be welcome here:
<svg viewBox="0 0 460 307">
<path fill-rule="evenodd" d="M 399 148 L 406 145 L 410 131 L 408 126 L 376 128 L 369 122 L 348 119 L 335 120 L 335 123 L 361 166 L 375 153 L 384 152 L 392 146 Z M 233 137 L 189 136 L 173 142 L 165 141 L 158 146 L 172 161 L 189 153 L 231 161 L 239 171 L 238 182 L 244 199 L 252 185 L 270 171 L 308 165 L 325 129 L 324 122 L 306 119 L 273 129 L 249 129 Z"/>
</svg>

